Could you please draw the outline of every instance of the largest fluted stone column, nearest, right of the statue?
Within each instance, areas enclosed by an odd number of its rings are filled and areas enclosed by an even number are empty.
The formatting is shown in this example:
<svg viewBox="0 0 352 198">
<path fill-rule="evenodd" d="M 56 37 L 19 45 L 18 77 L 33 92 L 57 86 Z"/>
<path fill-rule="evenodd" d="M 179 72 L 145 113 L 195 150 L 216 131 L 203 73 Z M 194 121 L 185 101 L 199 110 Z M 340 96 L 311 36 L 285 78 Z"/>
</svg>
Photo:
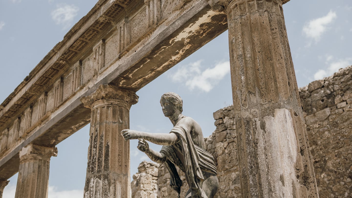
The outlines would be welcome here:
<svg viewBox="0 0 352 198">
<path fill-rule="evenodd" d="M 243 197 L 318 197 L 280 0 L 210 0 L 228 21 Z"/>
</svg>

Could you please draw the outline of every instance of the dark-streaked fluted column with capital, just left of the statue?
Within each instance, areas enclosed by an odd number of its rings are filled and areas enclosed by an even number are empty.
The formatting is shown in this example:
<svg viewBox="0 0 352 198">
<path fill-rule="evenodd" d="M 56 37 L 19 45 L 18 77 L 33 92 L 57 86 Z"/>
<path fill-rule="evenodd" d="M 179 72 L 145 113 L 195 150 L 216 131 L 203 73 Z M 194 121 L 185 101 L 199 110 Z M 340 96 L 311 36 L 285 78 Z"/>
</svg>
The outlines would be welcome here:
<svg viewBox="0 0 352 198">
<path fill-rule="evenodd" d="M 135 92 L 101 85 L 81 99 L 92 109 L 84 198 L 131 198 L 130 142 L 120 131 L 130 128 Z"/>
</svg>

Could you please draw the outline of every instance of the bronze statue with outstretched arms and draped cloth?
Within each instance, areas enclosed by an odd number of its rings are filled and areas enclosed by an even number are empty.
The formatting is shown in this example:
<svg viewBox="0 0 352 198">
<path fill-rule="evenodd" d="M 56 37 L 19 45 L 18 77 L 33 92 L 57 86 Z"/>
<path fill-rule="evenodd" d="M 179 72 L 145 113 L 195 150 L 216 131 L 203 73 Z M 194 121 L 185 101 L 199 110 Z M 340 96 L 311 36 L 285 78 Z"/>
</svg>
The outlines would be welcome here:
<svg viewBox="0 0 352 198">
<path fill-rule="evenodd" d="M 182 115 L 182 99 L 173 92 L 161 97 L 165 117 L 174 125 L 169 134 L 147 133 L 135 130 L 122 130 L 125 140 L 138 139 L 137 148 L 151 160 L 164 163 L 170 173 L 170 186 L 180 197 L 182 180 L 175 165 L 185 174 L 189 189 L 185 198 L 213 198 L 218 191 L 214 157 L 205 148 L 205 141 L 200 125 L 192 118 Z M 149 148 L 148 143 L 163 145 L 160 152 Z"/>
</svg>

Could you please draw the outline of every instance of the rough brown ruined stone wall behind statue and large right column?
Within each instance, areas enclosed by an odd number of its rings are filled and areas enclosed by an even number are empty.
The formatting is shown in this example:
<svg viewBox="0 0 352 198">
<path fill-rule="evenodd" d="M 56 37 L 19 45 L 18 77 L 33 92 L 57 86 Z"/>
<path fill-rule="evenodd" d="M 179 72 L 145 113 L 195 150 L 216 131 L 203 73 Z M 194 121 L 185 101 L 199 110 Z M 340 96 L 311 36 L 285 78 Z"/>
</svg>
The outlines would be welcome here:
<svg viewBox="0 0 352 198">
<path fill-rule="evenodd" d="M 300 98 L 319 196 L 352 197 L 352 66 L 300 88 Z M 241 197 L 232 108 L 228 106 L 213 114 L 216 130 L 205 138 L 207 151 L 214 156 L 218 168 L 216 198 Z M 188 185 L 183 173 L 180 177 L 184 183 L 181 197 L 184 197 Z M 158 178 L 153 182 L 157 182 L 158 198 L 177 197 L 163 165 L 159 166 Z"/>
</svg>

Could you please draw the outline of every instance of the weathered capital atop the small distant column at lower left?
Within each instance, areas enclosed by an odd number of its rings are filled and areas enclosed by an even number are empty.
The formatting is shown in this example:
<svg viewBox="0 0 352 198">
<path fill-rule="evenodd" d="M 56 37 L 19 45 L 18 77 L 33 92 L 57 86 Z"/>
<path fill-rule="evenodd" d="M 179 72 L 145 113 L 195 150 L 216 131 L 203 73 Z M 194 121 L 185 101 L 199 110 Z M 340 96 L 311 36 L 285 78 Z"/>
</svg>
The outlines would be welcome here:
<svg viewBox="0 0 352 198">
<path fill-rule="evenodd" d="M 36 144 L 28 144 L 20 151 L 20 164 L 32 162 L 33 160 L 50 161 L 51 156 L 57 156 L 56 147 L 44 147 Z"/>
</svg>

